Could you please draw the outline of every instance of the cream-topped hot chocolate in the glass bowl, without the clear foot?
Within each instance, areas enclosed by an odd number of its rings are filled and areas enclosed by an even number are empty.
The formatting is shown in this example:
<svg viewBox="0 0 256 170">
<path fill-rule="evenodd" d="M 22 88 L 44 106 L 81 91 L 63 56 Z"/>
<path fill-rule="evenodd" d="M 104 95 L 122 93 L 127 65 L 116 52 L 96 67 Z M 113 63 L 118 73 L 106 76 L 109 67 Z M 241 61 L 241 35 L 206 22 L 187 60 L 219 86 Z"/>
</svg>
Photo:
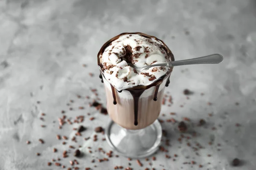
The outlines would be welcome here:
<svg viewBox="0 0 256 170">
<path fill-rule="evenodd" d="M 98 53 L 100 78 L 105 86 L 107 110 L 118 125 L 138 130 L 159 116 L 165 86 L 172 68 L 151 67 L 142 72 L 129 63 L 144 67 L 174 61 L 169 48 L 156 37 L 143 33 L 123 33 L 106 42 Z"/>
</svg>

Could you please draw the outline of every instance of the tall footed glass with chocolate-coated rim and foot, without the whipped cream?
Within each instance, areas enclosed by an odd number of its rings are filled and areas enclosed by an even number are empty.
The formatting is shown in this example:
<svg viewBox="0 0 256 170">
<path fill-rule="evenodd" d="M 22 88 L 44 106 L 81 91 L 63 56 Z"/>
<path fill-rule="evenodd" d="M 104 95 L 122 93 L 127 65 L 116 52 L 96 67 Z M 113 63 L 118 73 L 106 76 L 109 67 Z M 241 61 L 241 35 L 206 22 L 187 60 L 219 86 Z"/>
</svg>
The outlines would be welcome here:
<svg viewBox="0 0 256 170">
<path fill-rule="evenodd" d="M 142 33 L 123 34 L 152 37 Z M 102 46 L 98 54 L 98 64 L 102 51 L 119 36 L 112 38 Z M 173 61 L 172 52 L 166 45 L 165 48 L 169 60 Z M 100 64 L 99 67 L 101 68 Z M 105 86 L 107 110 L 111 118 L 111 122 L 105 129 L 108 144 L 119 154 L 127 157 L 142 158 L 151 155 L 157 151 L 161 142 L 162 128 L 157 117 L 161 111 L 164 88 L 169 85 L 172 68 L 169 68 L 163 77 L 151 85 L 136 86 L 122 91 L 117 91 L 114 85 L 105 79 L 102 69 L 100 71 L 100 77 Z"/>
</svg>

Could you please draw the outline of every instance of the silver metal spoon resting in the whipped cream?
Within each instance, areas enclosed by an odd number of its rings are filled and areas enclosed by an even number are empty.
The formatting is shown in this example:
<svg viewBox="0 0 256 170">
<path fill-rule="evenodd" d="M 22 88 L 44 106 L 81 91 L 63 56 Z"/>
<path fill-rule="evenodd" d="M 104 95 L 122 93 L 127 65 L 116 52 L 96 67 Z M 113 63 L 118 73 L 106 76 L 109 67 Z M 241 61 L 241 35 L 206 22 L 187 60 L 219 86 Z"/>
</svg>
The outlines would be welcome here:
<svg viewBox="0 0 256 170">
<path fill-rule="evenodd" d="M 198 58 L 193 58 L 193 59 L 183 59 L 183 60 L 179 60 L 179 61 L 169 61 L 169 62 L 164 62 L 161 64 L 147 65 L 145 67 L 136 67 L 135 65 L 133 65 L 131 63 L 128 63 L 128 65 L 135 68 L 137 71 L 141 72 L 145 69 L 148 69 L 151 67 L 157 67 L 157 66 L 172 67 L 172 66 L 190 65 L 190 64 L 218 64 L 222 61 L 223 61 L 223 57 L 221 54 L 211 54 L 211 55 L 204 56 L 204 57 L 198 57 Z"/>
</svg>

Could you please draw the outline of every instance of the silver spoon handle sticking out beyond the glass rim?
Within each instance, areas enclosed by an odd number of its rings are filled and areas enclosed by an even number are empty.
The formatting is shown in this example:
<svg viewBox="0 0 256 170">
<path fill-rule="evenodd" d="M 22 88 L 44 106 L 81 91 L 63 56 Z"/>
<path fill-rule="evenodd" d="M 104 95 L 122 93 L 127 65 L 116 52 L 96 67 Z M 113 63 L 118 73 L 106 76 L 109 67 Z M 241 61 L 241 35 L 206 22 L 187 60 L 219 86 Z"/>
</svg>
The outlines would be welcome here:
<svg viewBox="0 0 256 170">
<path fill-rule="evenodd" d="M 211 54 L 204 57 L 198 57 L 193 59 L 184 59 L 179 61 L 167 62 L 167 66 L 177 66 L 177 65 L 190 65 L 190 64 L 218 64 L 223 61 L 221 54 Z"/>
</svg>

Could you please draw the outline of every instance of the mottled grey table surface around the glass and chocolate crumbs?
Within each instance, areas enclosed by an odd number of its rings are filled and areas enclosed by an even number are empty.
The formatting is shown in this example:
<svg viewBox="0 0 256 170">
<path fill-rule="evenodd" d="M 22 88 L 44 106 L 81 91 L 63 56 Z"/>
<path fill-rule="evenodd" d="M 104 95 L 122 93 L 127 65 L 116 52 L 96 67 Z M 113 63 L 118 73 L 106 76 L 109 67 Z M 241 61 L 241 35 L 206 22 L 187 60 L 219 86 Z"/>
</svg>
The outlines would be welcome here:
<svg viewBox="0 0 256 170">
<path fill-rule="evenodd" d="M 128 167 L 128 162 L 134 170 L 255 170 L 255 8 L 255 0 L 0 0 L 0 170 L 57 170 L 61 167 L 47 166 L 47 162 L 58 157 L 67 169 L 69 161 L 76 159 L 71 153 L 62 158 L 64 150 L 73 152 L 68 148 L 70 144 L 83 145 L 84 156 L 77 159 L 76 165 L 82 170 L 112 170 L 116 165 Z M 160 116 L 168 133 L 163 141 L 169 139 L 171 146 L 163 142 L 168 153 L 159 151 L 154 155 L 155 161 L 151 157 L 149 161 L 141 159 L 143 167 L 122 156 L 97 161 L 106 155 L 95 150 L 110 148 L 102 141 L 102 134 L 93 142 L 94 128 L 105 126 L 108 116 L 88 105 L 97 97 L 92 88 L 98 90 L 105 105 L 96 65 L 99 48 L 116 34 L 132 31 L 159 37 L 176 59 L 212 53 L 224 56 L 219 65 L 174 68 L 166 88 L 173 104 L 163 105 Z M 90 77 L 89 72 L 95 75 Z M 185 88 L 194 92 L 190 99 L 183 95 Z M 82 97 L 78 99 L 77 94 Z M 70 99 L 74 103 L 67 106 Z M 84 122 L 58 129 L 62 110 L 72 121 L 75 116 L 84 115 Z M 41 113 L 46 113 L 44 121 Z M 93 121 L 89 120 L 91 116 L 95 117 Z M 177 123 L 166 119 L 181 121 L 184 117 L 191 121 L 186 122 L 189 132 L 183 135 L 191 139 L 182 138 L 180 143 Z M 198 127 L 199 119 L 205 119 L 207 124 Z M 81 124 L 87 130 L 77 137 L 77 143 L 72 142 L 72 128 Z M 192 136 L 192 131 L 197 135 Z M 63 139 L 57 140 L 56 134 L 66 135 L 67 144 L 62 144 Z M 89 136 L 91 139 L 85 141 L 84 137 Z M 38 142 L 39 138 L 45 143 Z M 27 140 L 31 144 L 26 144 Z M 57 153 L 52 152 L 54 147 Z M 93 153 L 87 147 L 92 147 Z M 167 159 L 165 154 L 172 158 Z M 241 167 L 230 165 L 236 157 L 243 160 Z M 91 163 L 92 159 L 96 162 Z M 199 168 L 199 164 L 203 167 Z"/>
</svg>

